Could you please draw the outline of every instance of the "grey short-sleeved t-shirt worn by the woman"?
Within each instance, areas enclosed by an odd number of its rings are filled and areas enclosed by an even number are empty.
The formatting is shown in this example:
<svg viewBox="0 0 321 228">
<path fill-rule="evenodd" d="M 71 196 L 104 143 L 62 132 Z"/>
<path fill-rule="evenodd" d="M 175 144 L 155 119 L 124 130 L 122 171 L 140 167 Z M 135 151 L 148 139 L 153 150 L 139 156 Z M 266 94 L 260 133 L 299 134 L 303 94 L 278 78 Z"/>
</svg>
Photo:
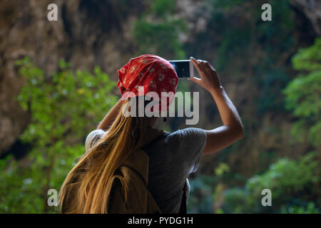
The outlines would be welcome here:
<svg viewBox="0 0 321 228">
<path fill-rule="evenodd" d="M 86 151 L 102 136 L 103 130 L 93 130 L 86 138 Z M 188 175 L 198 169 L 207 135 L 200 128 L 175 130 L 148 145 L 148 188 L 163 213 L 178 213 Z"/>
</svg>

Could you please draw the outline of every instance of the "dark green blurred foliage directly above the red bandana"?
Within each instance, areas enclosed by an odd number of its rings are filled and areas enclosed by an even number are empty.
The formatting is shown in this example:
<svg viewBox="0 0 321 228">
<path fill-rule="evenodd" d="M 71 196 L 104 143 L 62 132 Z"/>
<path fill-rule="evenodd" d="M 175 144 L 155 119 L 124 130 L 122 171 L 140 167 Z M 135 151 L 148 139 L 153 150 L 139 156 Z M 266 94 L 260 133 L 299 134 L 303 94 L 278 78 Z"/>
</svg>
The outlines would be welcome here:
<svg viewBox="0 0 321 228">
<path fill-rule="evenodd" d="M 185 58 L 183 43 L 179 34 L 187 30 L 181 19 L 173 17 L 175 4 L 170 0 L 153 1 L 134 24 L 133 38 L 138 44 L 139 53 L 156 53 L 164 58 Z"/>
</svg>

